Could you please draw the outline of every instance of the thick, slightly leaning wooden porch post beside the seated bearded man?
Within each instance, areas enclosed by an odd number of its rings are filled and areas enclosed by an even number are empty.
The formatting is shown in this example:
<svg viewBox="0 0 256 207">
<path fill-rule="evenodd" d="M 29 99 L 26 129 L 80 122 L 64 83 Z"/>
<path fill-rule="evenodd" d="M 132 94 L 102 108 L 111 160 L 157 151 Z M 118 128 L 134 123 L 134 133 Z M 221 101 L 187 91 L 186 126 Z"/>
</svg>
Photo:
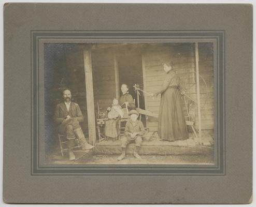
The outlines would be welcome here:
<svg viewBox="0 0 256 207">
<path fill-rule="evenodd" d="M 95 111 L 94 111 L 94 96 L 93 96 L 93 80 L 92 80 L 92 60 L 91 51 L 83 49 L 83 64 L 84 76 L 86 80 L 86 105 L 89 129 L 89 143 L 96 143 L 96 127 L 95 127 Z"/>
</svg>

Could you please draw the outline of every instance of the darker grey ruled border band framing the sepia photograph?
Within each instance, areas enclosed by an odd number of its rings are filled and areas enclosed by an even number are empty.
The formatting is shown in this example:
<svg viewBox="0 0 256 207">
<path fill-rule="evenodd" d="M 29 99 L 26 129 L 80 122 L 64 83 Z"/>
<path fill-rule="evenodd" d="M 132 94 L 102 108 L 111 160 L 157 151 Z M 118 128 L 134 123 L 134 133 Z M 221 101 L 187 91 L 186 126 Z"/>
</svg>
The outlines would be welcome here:
<svg viewBox="0 0 256 207">
<path fill-rule="evenodd" d="M 125 36 L 126 35 L 126 36 Z M 86 165 L 79 167 L 39 167 L 37 98 L 38 41 L 44 39 L 195 39 L 217 38 L 217 153 L 218 168 L 210 165 Z M 31 175 L 225 175 L 225 32 L 224 31 L 31 31 Z M 221 105 L 222 103 L 222 105 Z M 219 114 L 222 114 L 220 117 Z M 74 166 L 74 165 L 72 165 Z M 107 167 L 105 167 L 107 166 Z M 143 167 L 141 167 L 143 166 Z M 187 166 L 187 167 L 184 167 Z M 194 165 L 193 165 L 194 166 Z"/>
</svg>

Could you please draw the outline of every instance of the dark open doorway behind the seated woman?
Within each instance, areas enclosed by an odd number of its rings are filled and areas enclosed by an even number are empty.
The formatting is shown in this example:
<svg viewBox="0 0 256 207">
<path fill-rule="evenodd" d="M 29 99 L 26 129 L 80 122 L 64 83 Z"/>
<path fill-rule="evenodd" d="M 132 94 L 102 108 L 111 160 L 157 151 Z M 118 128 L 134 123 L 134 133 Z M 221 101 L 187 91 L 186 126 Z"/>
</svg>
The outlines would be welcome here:
<svg viewBox="0 0 256 207">
<path fill-rule="evenodd" d="M 139 84 L 143 88 L 143 69 L 142 58 L 140 53 L 126 53 L 118 57 L 118 69 L 119 69 L 119 87 L 123 83 L 129 87 L 129 93 L 135 99 L 135 106 L 138 107 L 137 94 L 134 90 L 134 85 Z M 139 95 L 139 108 L 145 109 L 145 99 L 143 93 Z M 144 126 L 146 126 L 145 117 L 141 117 Z"/>
</svg>

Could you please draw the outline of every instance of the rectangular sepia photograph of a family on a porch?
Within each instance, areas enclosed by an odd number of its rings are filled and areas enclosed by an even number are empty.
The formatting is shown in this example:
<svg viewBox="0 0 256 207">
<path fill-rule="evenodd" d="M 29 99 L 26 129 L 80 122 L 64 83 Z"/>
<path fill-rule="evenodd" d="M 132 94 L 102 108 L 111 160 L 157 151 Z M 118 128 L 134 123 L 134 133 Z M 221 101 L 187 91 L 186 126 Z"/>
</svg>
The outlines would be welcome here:
<svg viewBox="0 0 256 207">
<path fill-rule="evenodd" d="M 212 42 L 44 43 L 48 164 L 215 164 Z"/>
</svg>

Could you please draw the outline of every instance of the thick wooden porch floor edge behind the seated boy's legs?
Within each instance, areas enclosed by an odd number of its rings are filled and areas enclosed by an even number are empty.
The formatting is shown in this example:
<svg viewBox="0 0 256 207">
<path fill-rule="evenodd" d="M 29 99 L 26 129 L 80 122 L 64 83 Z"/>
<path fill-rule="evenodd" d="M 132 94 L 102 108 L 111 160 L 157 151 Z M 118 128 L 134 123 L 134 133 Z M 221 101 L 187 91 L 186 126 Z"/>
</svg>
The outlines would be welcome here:
<svg viewBox="0 0 256 207">
<path fill-rule="evenodd" d="M 102 141 L 96 144 L 94 154 L 121 154 L 121 142 Z M 126 154 L 133 154 L 134 143 L 126 148 Z M 143 141 L 139 154 L 141 155 L 202 155 L 214 153 L 214 147 L 196 145 L 193 139 L 178 140 L 174 142 L 160 141 Z"/>
</svg>

